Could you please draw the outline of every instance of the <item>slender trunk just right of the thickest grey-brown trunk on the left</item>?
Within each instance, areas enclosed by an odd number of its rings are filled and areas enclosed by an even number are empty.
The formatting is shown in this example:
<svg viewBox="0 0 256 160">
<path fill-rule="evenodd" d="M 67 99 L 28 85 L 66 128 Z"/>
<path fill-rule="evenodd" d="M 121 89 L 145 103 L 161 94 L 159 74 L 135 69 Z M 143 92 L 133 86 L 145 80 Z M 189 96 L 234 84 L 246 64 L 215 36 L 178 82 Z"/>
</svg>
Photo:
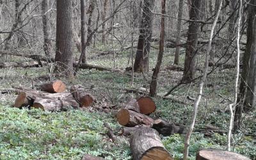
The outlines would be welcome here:
<svg viewBox="0 0 256 160">
<path fill-rule="evenodd" d="M 82 63 L 87 64 L 87 55 L 86 55 L 86 37 L 87 37 L 87 28 L 86 28 L 86 13 L 85 13 L 85 0 L 80 0 L 81 2 L 81 61 Z"/>
</svg>

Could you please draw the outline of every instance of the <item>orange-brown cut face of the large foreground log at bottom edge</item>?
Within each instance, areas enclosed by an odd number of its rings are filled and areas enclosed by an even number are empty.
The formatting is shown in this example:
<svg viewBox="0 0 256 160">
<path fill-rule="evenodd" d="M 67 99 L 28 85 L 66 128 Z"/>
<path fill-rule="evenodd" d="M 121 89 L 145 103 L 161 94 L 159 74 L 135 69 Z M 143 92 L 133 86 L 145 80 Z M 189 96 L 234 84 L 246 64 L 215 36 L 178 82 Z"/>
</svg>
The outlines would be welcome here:
<svg viewBox="0 0 256 160">
<path fill-rule="evenodd" d="M 173 158 L 170 156 L 164 148 L 156 147 L 156 148 L 150 148 L 142 157 L 141 160 L 173 160 Z"/>
</svg>

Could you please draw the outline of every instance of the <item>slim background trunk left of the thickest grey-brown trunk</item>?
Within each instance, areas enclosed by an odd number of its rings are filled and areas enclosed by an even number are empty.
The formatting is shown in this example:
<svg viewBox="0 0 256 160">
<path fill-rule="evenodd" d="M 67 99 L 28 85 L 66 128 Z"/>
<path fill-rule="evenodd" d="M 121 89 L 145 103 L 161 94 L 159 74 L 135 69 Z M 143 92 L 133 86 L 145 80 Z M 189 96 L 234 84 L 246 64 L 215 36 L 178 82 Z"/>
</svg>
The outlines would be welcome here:
<svg viewBox="0 0 256 160">
<path fill-rule="evenodd" d="M 44 53 L 47 58 L 51 55 L 51 41 L 49 40 L 49 20 L 47 16 L 47 10 L 49 10 L 49 0 L 42 1 L 42 22 L 44 33 Z"/>
</svg>

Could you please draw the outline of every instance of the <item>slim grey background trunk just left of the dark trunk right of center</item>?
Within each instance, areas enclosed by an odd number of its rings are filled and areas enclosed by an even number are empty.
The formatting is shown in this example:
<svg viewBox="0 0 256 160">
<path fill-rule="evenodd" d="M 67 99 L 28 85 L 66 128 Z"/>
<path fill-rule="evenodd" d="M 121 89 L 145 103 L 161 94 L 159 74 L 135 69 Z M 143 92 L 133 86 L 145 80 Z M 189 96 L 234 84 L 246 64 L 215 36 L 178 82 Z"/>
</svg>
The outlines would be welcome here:
<svg viewBox="0 0 256 160">
<path fill-rule="evenodd" d="M 176 38 L 176 51 L 175 51 L 175 58 L 174 64 L 179 65 L 180 59 L 180 36 L 181 36 L 181 19 L 183 15 L 183 6 L 184 0 L 179 0 L 179 12 L 178 12 L 178 20 L 177 20 L 177 38 Z"/>
</svg>

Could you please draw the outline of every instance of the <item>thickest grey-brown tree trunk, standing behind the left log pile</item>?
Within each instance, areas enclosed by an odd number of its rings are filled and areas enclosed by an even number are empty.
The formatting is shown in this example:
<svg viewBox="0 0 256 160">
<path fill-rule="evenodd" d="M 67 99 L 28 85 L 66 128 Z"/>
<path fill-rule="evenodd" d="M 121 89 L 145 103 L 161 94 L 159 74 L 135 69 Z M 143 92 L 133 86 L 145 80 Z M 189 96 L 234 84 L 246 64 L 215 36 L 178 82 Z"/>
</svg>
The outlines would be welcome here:
<svg viewBox="0 0 256 160">
<path fill-rule="evenodd" d="M 56 71 L 73 76 L 72 51 L 72 1 L 57 0 L 56 21 Z"/>
</svg>

